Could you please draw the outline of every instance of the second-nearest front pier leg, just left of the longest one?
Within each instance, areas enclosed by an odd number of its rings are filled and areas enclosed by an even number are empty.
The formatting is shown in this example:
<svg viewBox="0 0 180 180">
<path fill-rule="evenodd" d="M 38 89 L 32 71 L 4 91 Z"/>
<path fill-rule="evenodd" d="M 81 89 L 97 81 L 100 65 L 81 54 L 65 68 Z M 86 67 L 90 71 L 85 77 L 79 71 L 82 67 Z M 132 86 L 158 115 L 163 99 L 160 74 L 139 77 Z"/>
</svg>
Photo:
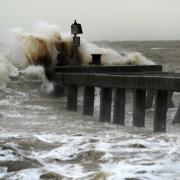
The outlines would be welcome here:
<svg viewBox="0 0 180 180">
<path fill-rule="evenodd" d="M 146 90 L 136 89 L 133 93 L 133 125 L 144 127 L 145 124 Z"/>
</svg>

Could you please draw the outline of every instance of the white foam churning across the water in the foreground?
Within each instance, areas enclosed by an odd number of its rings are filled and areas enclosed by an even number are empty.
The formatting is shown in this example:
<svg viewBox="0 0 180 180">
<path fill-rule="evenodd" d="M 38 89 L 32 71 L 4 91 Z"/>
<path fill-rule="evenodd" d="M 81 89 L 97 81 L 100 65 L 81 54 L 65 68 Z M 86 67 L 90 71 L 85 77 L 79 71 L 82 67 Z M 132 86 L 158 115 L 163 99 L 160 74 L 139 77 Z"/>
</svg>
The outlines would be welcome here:
<svg viewBox="0 0 180 180">
<path fill-rule="evenodd" d="M 38 141 L 56 146 L 54 149 L 32 151 L 28 153 L 30 154 L 28 157 L 41 162 L 44 170 L 66 177 L 87 179 L 88 175 L 95 173 L 91 169 L 87 170 L 86 166 L 84 168 L 84 163 L 88 166 L 93 157 L 89 161 L 80 160 L 77 163 L 73 161 L 81 152 L 90 150 L 104 153 L 100 160 L 93 162 L 99 167 L 96 170 L 108 174 L 107 179 L 110 180 L 125 178 L 162 180 L 180 176 L 179 135 L 129 134 L 109 129 L 99 133 L 98 136 L 88 133 L 81 136 L 68 134 L 35 134 L 33 136 Z M 25 137 L 23 135 L 23 138 Z M 32 139 L 32 136 L 30 137 Z M 136 147 L 136 144 L 144 148 Z M 13 177 L 26 179 L 31 173 L 32 170 L 28 169 L 16 172 L 16 176 L 14 174 Z M 35 177 L 38 177 L 40 171 L 35 173 Z"/>
</svg>

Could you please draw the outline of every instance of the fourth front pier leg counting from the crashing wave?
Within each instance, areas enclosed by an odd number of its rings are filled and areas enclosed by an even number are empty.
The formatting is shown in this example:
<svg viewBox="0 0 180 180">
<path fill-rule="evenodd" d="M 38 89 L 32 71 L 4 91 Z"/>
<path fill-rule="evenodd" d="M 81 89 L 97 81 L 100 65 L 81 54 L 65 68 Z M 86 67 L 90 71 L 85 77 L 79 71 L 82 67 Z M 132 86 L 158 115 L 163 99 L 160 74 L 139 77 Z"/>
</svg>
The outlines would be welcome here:
<svg viewBox="0 0 180 180">
<path fill-rule="evenodd" d="M 115 89 L 114 92 L 114 109 L 113 109 L 113 123 L 124 126 L 125 120 L 125 104 L 126 104 L 126 90 Z"/>
</svg>

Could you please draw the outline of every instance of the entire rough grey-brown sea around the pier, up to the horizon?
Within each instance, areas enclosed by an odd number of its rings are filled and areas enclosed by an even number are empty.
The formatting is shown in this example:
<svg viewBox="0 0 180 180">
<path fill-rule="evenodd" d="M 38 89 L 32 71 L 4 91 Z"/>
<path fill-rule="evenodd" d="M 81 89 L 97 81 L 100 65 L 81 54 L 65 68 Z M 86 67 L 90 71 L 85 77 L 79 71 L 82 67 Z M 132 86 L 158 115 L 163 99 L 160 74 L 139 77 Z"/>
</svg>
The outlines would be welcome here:
<svg viewBox="0 0 180 180">
<path fill-rule="evenodd" d="M 82 115 L 81 90 L 78 112 L 67 111 L 66 97 L 53 95 L 43 66 L 30 62 L 33 42 L 25 38 L 22 46 L 14 36 L 1 39 L 0 179 L 180 180 L 180 125 L 172 124 L 179 93 L 168 109 L 166 133 L 153 133 L 153 108 L 146 110 L 145 128 L 132 126 L 131 93 L 124 127 L 100 123 L 98 88 L 93 117 Z M 180 41 L 84 44 L 82 53 L 92 47 L 105 53 L 105 64 L 154 63 L 180 72 Z"/>
</svg>

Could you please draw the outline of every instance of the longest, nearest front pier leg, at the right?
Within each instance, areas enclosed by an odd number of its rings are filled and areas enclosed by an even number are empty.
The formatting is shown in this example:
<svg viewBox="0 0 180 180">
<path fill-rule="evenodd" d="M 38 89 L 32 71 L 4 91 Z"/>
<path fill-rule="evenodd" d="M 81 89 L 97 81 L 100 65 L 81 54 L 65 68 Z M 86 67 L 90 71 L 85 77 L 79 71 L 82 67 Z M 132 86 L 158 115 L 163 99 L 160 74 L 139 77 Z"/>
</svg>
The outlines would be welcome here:
<svg viewBox="0 0 180 180">
<path fill-rule="evenodd" d="M 166 113 L 168 92 L 158 90 L 155 97 L 154 132 L 166 131 Z"/>
</svg>

